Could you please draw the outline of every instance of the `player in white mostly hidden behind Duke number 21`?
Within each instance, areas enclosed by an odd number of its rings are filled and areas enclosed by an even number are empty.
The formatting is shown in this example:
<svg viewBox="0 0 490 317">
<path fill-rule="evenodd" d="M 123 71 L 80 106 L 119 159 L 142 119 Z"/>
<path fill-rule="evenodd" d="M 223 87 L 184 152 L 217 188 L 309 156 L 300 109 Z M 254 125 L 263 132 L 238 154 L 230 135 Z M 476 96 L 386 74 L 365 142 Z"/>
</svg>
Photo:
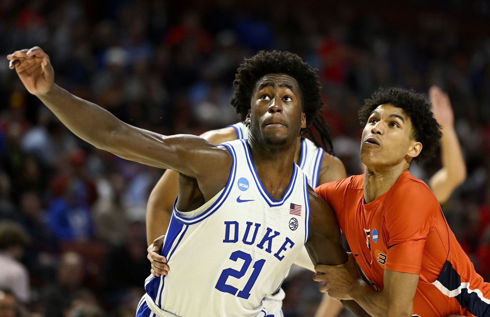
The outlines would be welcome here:
<svg viewBox="0 0 490 317">
<path fill-rule="evenodd" d="M 249 132 L 248 124 L 249 122 L 235 123 L 222 129 L 205 132 L 201 136 L 216 145 L 236 139 L 247 139 Z M 313 126 L 319 133 L 322 145 L 325 148 L 330 148 L 330 151 L 326 152 L 321 145 L 317 146 L 313 141 L 305 137 L 299 137 L 297 139 L 294 161 L 306 174 L 309 185 L 315 188 L 319 184 L 344 178 L 345 168 L 343 167 L 342 162 L 332 155 L 333 147 L 323 117 L 317 116 L 315 122 L 313 122 Z M 317 142 L 315 138 L 313 139 Z M 173 202 L 177 196 L 177 182 L 177 172 L 170 170 L 165 171 L 148 199 L 147 238 L 148 244 L 150 244 L 148 247 L 148 259 L 152 262 L 152 273 L 155 276 L 160 276 L 162 273 L 165 274 L 166 271 L 164 268 L 168 267 L 165 265 L 167 260 L 157 253 L 163 244 L 164 236 L 159 238 L 156 237 L 167 232 L 172 217 Z M 156 245 L 155 251 L 152 250 L 154 245 Z M 294 263 L 315 272 L 314 265 L 305 248 L 303 248 Z M 328 297 L 327 294 L 324 296 Z M 280 288 L 275 293 L 264 298 L 263 304 L 268 314 L 283 316 L 282 300 L 284 297 L 285 293 L 283 289 Z M 336 316 L 343 309 L 343 305 L 339 301 L 328 300 L 328 298 L 324 299 L 324 301 L 328 301 L 330 305 L 323 305 L 325 308 L 321 308 L 321 311 L 319 310 L 317 312 L 320 316 L 325 316 L 327 314 L 329 314 L 329 316 Z"/>
</svg>

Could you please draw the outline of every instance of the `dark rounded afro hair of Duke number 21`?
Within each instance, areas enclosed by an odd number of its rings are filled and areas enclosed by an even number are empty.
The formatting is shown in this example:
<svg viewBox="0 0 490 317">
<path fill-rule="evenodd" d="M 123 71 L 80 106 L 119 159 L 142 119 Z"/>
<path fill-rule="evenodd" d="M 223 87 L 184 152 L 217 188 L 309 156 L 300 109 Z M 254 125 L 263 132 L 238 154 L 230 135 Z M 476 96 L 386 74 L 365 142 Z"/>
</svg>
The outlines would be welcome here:
<svg viewBox="0 0 490 317">
<path fill-rule="evenodd" d="M 271 73 L 288 74 L 299 85 L 301 106 L 306 115 L 306 128 L 302 128 L 300 134 L 308 132 L 319 113 L 324 107 L 320 97 L 321 84 L 317 75 L 317 69 L 304 62 L 301 57 L 291 52 L 273 50 L 271 52 L 259 51 L 257 55 L 245 59 L 240 65 L 233 81 L 235 92 L 230 103 L 245 122 L 246 115 L 251 106 L 252 93 L 257 81 Z M 322 125 L 319 125 L 320 129 Z M 328 138 L 330 139 L 330 138 Z"/>
</svg>

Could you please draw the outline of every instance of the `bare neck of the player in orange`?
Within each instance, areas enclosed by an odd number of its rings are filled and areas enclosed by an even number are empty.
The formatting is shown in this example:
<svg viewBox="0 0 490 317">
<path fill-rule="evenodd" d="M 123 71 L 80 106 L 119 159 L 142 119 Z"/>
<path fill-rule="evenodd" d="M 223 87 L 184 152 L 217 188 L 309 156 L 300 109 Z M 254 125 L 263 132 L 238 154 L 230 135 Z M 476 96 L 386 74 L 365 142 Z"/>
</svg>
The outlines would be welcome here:
<svg viewBox="0 0 490 317">
<path fill-rule="evenodd" d="M 370 203 L 392 188 L 409 165 L 400 164 L 388 168 L 368 168 L 364 171 L 364 203 Z"/>
</svg>

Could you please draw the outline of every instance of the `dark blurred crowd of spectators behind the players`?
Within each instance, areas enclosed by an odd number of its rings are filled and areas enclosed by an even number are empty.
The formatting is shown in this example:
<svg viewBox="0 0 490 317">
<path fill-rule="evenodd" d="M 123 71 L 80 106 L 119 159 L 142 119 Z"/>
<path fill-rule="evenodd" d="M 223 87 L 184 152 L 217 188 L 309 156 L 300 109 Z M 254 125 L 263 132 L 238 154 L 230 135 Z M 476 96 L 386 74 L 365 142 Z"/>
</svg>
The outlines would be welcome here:
<svg viewBox="0 0 490 317">
<path fill-rule="evenodd" d="M 244 57 L 293 51 L 319 69 L 348 175 L 362 173 L 363 99 L 437 84 L 468 171 L 442 208 L 490 282 L 489 21 L 487 0 L 0 0 L 0 55 L 40 46 L 76 96 L 138 127 L 200 134 L 238 121 L 228 99 Z M 150 270 L 146 203 L 163 171 L 82 142 L 6 59 L 0 82 L 0 317 L 134 316 Z M 427 180 L 440 164 L 411 170 Z M 314 315 L 311 277 L 285 282 L 286 317 Z"/>
</svg>

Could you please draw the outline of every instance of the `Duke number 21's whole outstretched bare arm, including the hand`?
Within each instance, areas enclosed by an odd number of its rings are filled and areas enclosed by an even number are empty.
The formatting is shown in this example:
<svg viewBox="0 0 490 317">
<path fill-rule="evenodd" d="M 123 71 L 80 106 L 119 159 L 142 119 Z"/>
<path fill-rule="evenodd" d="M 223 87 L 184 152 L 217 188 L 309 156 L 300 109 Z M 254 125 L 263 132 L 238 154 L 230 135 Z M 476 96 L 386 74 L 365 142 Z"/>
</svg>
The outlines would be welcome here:
<svg viewBox="0 0 490 317">
<path fill-rule="evenodd" d="M 231 168 L 228 151 L 202 138 L 163 136 L 131 126 L 98 105 L 58 87 L 54 84 L 49 56 L 39 47 L 16 51 L 7 58 L 29 93 L 41 99 L 74 134 L 98 148 L 131 161 L 176 170 L 198 181 L 210 176 L 214 166 Z M 208 198 L 215 192 L 213 188 L 210 193 L 202 194 Z"/>
</svg>

